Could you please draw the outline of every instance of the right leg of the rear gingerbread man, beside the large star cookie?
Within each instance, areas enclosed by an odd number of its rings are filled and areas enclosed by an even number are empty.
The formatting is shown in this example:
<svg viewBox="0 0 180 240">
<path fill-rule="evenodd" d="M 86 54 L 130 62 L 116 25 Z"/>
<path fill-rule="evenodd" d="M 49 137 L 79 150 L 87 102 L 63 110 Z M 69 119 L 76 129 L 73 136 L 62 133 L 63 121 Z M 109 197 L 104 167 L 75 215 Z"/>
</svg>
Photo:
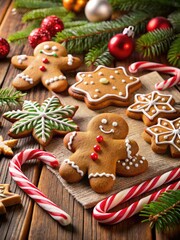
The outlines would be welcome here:
<svg viewBox="0 0 180 240">
<path fill-rule="evenodd" d="M 43 74 L 42 84 L 53 92 L 63 92 L 68 87 L 66 77 L 59 71 L 59 69 L 52 69 Z"/>
</svg>

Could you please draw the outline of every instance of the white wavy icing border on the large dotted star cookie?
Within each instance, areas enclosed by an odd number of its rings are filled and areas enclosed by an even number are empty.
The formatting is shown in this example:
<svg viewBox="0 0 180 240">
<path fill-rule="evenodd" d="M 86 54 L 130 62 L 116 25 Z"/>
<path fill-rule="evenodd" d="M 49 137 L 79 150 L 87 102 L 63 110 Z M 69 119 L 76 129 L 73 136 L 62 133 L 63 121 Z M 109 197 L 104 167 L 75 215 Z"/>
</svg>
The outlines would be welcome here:
<svg viewBox="0 0 180 240">
<path fill-rule="evenodd" d="M 78 79 L 79 81 L 76 82 L 75 84 L 73 84 L 73 85 L 71 86 L 72 91 L 75 92 L 75 93 L 79 93 L 79 94 L 81 94 L 81 95 L 82 95 L 82 93 L 83 93 L 83 94 L 87 97 L 88 101 L 89 101 L 89 102 L 92 102 L 92 103 L 93 103 L 93 102 L 94 102 L 94 103 L 100 102 L 100 101 L 102 101 L 102 100 L 104 100 L 104 99 L 106 99 L 106 98 L 108 99 L 109 97 L 110 97 L 110 98 L 116 98 L 116 99 L 119 99 L 119 100 L 125 100 L 125 99 L 128 99 L 128 98 L 129 98 L 129 91 L 128 91 L 128 90 L 129 90 L 129 87 L 132 86 L 132 85 L 136 85 L 137 83 L 140 82 L 139 78 L 129 76 L 129 75 L 126 73 L 124 67 L 108 68 L 108 67 L 104 67 L 104 66 L 102 66 L 102 65 L 99 65 L 93 72 L 86 72 L 86 74 L 88 74 L 88 73 L 95 73 L 95 72 L 97 72 L 97 71 L 98 71 L 99 69 L 101 69 L 101 68 L 113 70 L 116 74 L 119 74 L 119 72 L 118 72 L 117 69 L 122 70 L 123 73 L 124 73 L 124 75 L 126 75 L 127 77 L 129 77 L 130 80 L 133 80 L 133 79 L 136 79 L 136 80 L 126 84 L 126 86 L 125 86 L 125 96 L 122 96 L 121 94 L 109 94 L 109 93 L 106 93 L 106 94 L 104 94 L 103 96 L 101 96 L 100 98 L 94 99 L 94 98 L 91 97 L 91 95 L 90 95 L 87 91 L 85 91 L 85 90 L 77 87 L 78 84 L 80 84 L 80 83 L 83 82 L 83 80 L 84 80 L 84 79 L 83 79 L 83 76 L 84 76 L 84 74 L 85 74 L 84 72 L 79 72 L 79 73 L 77 73 L 77 79 Z M 114 80 L 113 80 L 113 81 L 114 81 Z"/>
</svg>

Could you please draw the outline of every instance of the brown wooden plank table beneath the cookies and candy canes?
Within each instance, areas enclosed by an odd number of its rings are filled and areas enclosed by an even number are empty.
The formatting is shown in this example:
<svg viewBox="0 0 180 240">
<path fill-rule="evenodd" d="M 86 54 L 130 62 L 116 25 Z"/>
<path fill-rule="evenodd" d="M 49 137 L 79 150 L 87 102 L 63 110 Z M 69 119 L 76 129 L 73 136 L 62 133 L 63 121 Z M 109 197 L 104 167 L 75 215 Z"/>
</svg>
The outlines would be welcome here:
<svg viewBox="0 0 180 240">
<path fill-rule="evenodd" d="M 7 36 L 17 30 L 22 29 L 21 15 L 12 15 L 13 5 L 11 0 L 0 0 L 0 36 Z M 1 87 L 11 86 L 13 77 L 19 72 L 10 64 L 13 55 L 26 53 L 32 54 L 32 49 L 28 44 L 11 44 L 11 51 L 8 58 L 0 61 L 0 83 Z M 134 55 L 121 65 L 125 67 L 129 63 L 137 60 Z M 50 93 L 41 85 L 27 92 L 26 99 L 33 99 L 42 102 L 50 96 Z M 3 128 L 1 134 L 8 138 L 7 132 L 11 124 L 2 119 Z M 40 148 L 32 137 L 19 140 L 15 153 L 26 148 Z M 179 239 L 180 229 L 178 227 L 166 234 L 157 233 L 149 228 L 148 223 L 141 223 L 142 218 L 138 215 L 119 223 L 115 226 L 103 226 L 97 223 L 92 217 L 92 209 L 86 210 L 73 199 L 64 189 L 55 175 L 45 166 L 32 162 L 22 167 L 25 175 L 35 183 L 52 201 L 67 211 L 72 216 L 72 225 L 62 227 L 55 222 L 46 212 L 34 204 L 30 198 L 24 194 L 15 182 L 11 179 L 8 171 L 9 160 L 1 156 L 0 161 L 0 183 L 9 183 L 12 192 L 21 195 L 22 204 L 8 207 L 7 214 L 0 216 L 0 239 L 32 239 L 32 240 L 55 240 L 55 239 Z M 128 204 L 128 203 L 127 203 Z"/>
</svg>

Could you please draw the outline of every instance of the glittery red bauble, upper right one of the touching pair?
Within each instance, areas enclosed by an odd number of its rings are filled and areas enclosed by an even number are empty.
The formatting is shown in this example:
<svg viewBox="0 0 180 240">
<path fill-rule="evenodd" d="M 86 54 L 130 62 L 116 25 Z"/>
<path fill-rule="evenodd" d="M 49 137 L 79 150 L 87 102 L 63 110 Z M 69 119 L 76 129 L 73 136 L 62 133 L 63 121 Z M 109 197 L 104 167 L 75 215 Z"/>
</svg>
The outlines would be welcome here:
<svg viewBox="0 0 180 240">
<path fill-rule="evenodd" d="M 41 28 L 45 28 L 50 32 L 51 37 L 54 37 L 57 32 L 64 29 L 63 21 L 55 15 L 44 18 L 41 22 Z"/>
</svg>

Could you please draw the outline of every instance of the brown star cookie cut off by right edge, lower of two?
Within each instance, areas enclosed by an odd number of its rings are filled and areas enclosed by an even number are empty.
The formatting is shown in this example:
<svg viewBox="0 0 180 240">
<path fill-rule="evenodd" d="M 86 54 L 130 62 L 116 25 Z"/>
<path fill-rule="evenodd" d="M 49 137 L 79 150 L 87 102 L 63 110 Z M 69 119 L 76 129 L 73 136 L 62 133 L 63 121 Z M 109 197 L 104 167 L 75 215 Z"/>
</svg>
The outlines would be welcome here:
<svg viewBox="0 0 180 240">
<path fill-rule="evenodd" d="M 169 149 L 172 157 L 179 158 L 180 117 L 175 120 L 159 118 L 157 125 L 145 129 L 143 138 L 154 152 L 164 154 Z"/>
</svg>

